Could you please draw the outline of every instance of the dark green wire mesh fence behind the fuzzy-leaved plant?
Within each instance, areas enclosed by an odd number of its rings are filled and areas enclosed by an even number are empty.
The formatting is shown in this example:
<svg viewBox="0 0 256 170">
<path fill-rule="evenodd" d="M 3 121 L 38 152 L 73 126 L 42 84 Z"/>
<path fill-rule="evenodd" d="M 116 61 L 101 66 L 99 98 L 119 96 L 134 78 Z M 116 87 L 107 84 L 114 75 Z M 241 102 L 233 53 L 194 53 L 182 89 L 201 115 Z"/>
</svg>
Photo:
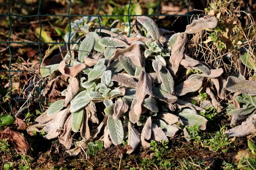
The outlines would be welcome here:
<svg viewBox="0 0 256 170">
<path fill-rule="evenodd" d="M 102 8 L 102 2 L 103 0 L 99 0 L 99 6 L 98 7 L 95 7 L 97 8 L 97 14 L 96 15 L 73 15 L 73 14 L 70 14 L 70 9 L 71 9 L 71 5 L 72 5 L 72 1 L 73 0 L 70 0 L 69 3 L 68 3 L 68 6 L 67 6 L 67 14 L 41 14 L 41 6 L 42 6 L 42 3 L 45 3 L 43 2 L 42 0 L 39 0 L 37 1 L 38 3 L 38 11 L 37 11 L 37 14 L 32 14 L 32 15 L 19 15 L 19 14 L 14 14 L 12 13 L 12 10 L 11 10 L 11 7 L 12 7 L 12 3 L 16 3 L 14 0 L 9 0 L 9 3 L 8 3 L 8 13 L 3 13 L 3 14 L 0 14 L 0 18 L 5 18 L 7 17 L 7 20 L 9 22 L 9 33 L 8 33 L 8 40 L 7 41 L 0 41 L 0 44 L 3 45 L 3 44 L 8 44 L 8 49 L 9 49 L 9 56 L 6 56 L 6 57 L 9 57 L 9 65 L 7 65 L 8 69 L 3 69 L 3 67 L 1 67 L 0 69 L 0 73 L 1 72 L 6 72 L 8 73 L 8 77 L 9 77 L 9 83 L 10 83 L 10 89 L 9 89 L 9 96 L 10 96 L 10 101 L 15 101 L 15 102 L 34 102 L 34 101 L 38 101 L 39 105 L 40 105 L 40 108 L 41 108 L 41 112 L 43 112 L 42 110 L 42 106 L 41 106 L 41 101 L 45 101 L 46 99 L 44 97 L 41 97 L 40 94 L 38 94 L 38 96 L 34 96 L 32 98 L 27 98 L 27 97 L 17 97 L 15 95 L 12 95 L 12 90 L 13 90 L 13 82 L 12 82 L 12 76 L 14 74 L 17 74 L 17 73 L 24 73 L 26 74 L 27 72 L 31 72 L 33 74 L 36 74 L 35 73 L 35 70 L 17 70 L 17 69 L 12 69 L 11 67 L 11 64 L 15 62 L 14 60 L 14 52 L 15 51 L 12 51 L 12 47 L 11 45 L 12 44 L 23 44 L 23 45 L 37 45 L 38 46 L 38 51 L 39 51 L 39 65 L 41 65 L 42 63 L 42 60 L 43 60 L 43 56 L 44 56 L 44 51 L 42 51 L 42 48 L 41 48 L 41 45 L 63 45 L 63 44 L 67 44 L 70 45 L 70 44 L 74 44 L 74 43 L 80 43 L 80 42 L 70 42 L 70 36 L 69 36 L 69 40 L 68 42 L 42 42 L 42 17 L 62 17 L 62 18 L 65 18 L 67 17 L 67 20 L 68 20 L 68 26 L 69 26 L 69 33 L 71 33 L 71 21 L 74 17 L 97 17 L 98 18 L 98 24 L 99 24 L 99 35 L 101 34 L 101 29 L 102 29 L 102 24 L 100 22 L 100 18 L 102 18 L 104 20 L 105 17 L 127 17 L 127 20 L 129 21 L 129 35 L 131 33 L 131 21 L 133 20 L 133 17 L 136 17 L 136 16 L 148 16 L 148 17 L 155 17 L 157 20 L 159 20 L 159 17 L 186 17 L 186 20 L 187 20 L 187 24 L 190 24 L 190 19 L 191 17 L 194 15 L 194 14 L 189 14 L 189 7 L 190 7 L 190 4 L 191 4 L 191 0 L 189 0 L 187 2 L 187 8 L 186 8 L 186 14 L 160 14 L 160 7 L 161 7 L 161 0 L 158 0 L 157 2 L 157 8 L 156 8 L 156 14 L 142 14 L 142 15 L 134 15 L 134 14 L 131 14 L 131 5 L 133 3 L 132 0 L 127 0 L 127 4 L 128 4 L 128 14 L 123 14 L 123 15 L 101 15 L 100 14 L 100 10 Z M 247 0 L 247 3 L 246 3 L 246 10 L 244 12 L 246 12 L 247 14 L 249 13 L 256 13 L 256 11 L 249 11 L 249 2 L 250 0 Z M 199 15 L 204 15 L 204 14 L 199 14 Z M 38 41 L 36 42 L 31 42 L 31 41 L 13 41 L 12 38 L 11 38 L 11 35 L 12 35 L 12 29 L 13 29 L 13 25 L 14 23 L 12 23 L 12 18 L 26 18 L 26 19 L 29 19 L 29 18 L 36 18 L 37 21 L 38 21 L 38 24 L 39 24 L 39 28 L 40 28 L 40 31 L 39 31 L 39 36 L 38 36 Z M 1 39 L 2 40 L 2 39 Z M 4 57 L 4 56 L 1 56 L 1 58 Z M 42 81 L 40 81 L 42 82 Z M 40 89 L 41 91 L 41 89 Z M 0 99 L 0 101 L 3 101 L 3 99 Z M 11 106 L 11 103 L 9 102 L 9 109 L 10 109 L 10 113 L 12 113 L 12 106 Z"/>
</svg>

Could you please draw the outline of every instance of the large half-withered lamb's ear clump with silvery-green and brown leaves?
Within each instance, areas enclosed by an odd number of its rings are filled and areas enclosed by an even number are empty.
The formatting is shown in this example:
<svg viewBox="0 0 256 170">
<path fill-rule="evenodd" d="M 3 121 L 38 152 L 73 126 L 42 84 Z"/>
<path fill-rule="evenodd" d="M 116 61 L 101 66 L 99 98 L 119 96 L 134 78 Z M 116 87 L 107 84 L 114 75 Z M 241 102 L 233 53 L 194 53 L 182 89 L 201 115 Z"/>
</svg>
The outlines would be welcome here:
<svg viewBox="0 0 256 170">
<path fill-rule="evenodd" d="M 102 140 L 104 147 L 128 139 L 131 147 L 127 153 L 132 153 L 139 144 L 150 147 L 151 140 L 161 142 L 175 136 L 182 126 L 207 128 L 207 119 L 198 114 L 204 108 L 183 99 L 201 90 L 205 79 L 214 81 L 221 96 L 218 78 L 223 70 L 212 69 L 184 51 L 187 34 L 214 29 L 215 17 L 194 20 L 185 32 L 177 34 L 159 29 L 149 17 L 134 17 L 130 37 L 124 27 L 116 32 L 102 27 L 99 36 L 95 19 L 76 20 L 71 34 L 65 36 L 65 41 L 81 42 L 68 47 L 78 55 L 67 53 L 59 64 L 40 68 L 43 77 L 50 76 L 50 89 L 46 87 L 44 94 L 58 83 L 60 73 L 67 86 L 64 91 L 55 89 L 57 101 L 28 131 L 44 131 L 45 139 L 59 136 L 67 152 L 75 156 L 95 138 Z M 184 68 L 198 71 L 184 79 Z M 70 149 L 72 131 L 80 131 L 82 140 Z"/>
</svg>

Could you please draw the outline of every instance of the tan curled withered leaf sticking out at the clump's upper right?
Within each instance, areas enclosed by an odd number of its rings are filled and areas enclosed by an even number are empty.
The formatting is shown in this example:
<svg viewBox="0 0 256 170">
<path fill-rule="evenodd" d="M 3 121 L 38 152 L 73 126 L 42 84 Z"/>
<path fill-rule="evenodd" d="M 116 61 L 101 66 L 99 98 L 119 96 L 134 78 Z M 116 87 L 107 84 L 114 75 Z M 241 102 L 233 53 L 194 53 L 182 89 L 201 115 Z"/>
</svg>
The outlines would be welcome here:
<svg viewBox="0 0 256 170">
<path fill-rule="evenodd" d="M 208 18 L 199 18 L 198 20 L 193 20 L 193 22 L 190 25 L 187 25 L 185 32 L 187 34 L 195 34 L 199 31 L 204 31 L 206 28 L 216 28 L 217 24 L 218 21 L 213 16 Z"/>
</svg>

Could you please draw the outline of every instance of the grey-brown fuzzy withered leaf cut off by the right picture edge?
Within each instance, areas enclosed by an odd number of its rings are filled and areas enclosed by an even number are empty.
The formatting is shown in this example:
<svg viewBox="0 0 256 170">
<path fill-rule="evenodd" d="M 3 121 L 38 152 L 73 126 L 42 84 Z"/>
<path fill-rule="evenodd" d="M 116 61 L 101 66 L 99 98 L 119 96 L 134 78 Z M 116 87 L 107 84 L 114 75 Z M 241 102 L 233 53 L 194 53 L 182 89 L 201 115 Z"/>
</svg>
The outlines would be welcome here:
<svg viewBox="0 0 256 170">
<path fill-rule="evenodd" d="M 227 78 L 225 88 L 230 92 L 239 92 L 249 96 L 256 96 L 256 81 L 241 80 L 234 76 Z"/>
</svg>

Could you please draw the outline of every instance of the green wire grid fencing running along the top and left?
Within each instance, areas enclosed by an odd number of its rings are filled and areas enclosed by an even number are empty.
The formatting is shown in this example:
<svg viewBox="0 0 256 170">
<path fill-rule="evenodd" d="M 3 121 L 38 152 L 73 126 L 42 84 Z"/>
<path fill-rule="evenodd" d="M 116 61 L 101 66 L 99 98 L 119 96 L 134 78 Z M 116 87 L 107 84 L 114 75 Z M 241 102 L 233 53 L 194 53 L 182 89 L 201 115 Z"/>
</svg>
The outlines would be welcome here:
<svg viewBox="0 0 256 170">
<path fill-rule="evenodd" d="M 39 0 L 39 5 L 38 5 L 38 12 L 36 15 L 18 15 L 18 14 L 11 14 L 11 5 L 12 5 L 12 1 L 15 0 L 9 0 L 9 8 L 8 8 L 8 14 L 0 14 L 0 17 L 4 17 L 4 16 L 8 16 L 9 19 L 9 37 L 8 37 L 8 41 L 0 41 L 0 44 L 8 44 L 9 47 L 9 53 L 10 53 L 10 62 L 9 62 L 9 67 L 8 70 L 0 70 L 0 72 L 8 72 L 9 73 L 9 81 L 10 81 L 10 92 L 9 95 L 12 95 L 12 88 L 13 88 L 13 83 L 12 83 L 12 72 L 14 73 L 18 73 L 18 72 L 24 72 L 24 70 L 11 70 L 11 63 L 12 63 L 12 59 L 13 59 L 13 55 L 12 55 L 12 50 L 11 50 L 11 45 L 10 44 L 34 44 L 34 45 L 38 45 L 38 49 L 39 49 L 39 54 L 40 54 L 40 61 L 39 64 L 41 65 L 42 62 L 42 51 L 41 51 L 41 46 L 43 44 L 67 44 L 67 46 L 69 47 L 70 44 L 80 44 L 77 42 L 70 42 L 70 36 L 68 39 L 68 42 L 40 42 L 41 41 L 41 33 L 42 33 L 42 25 L 41 25 L 41 17 L 67 17 L 68 18 L 68 23 L 69 23 L 69 28 L 70 28 L 70 33 L 71 33 L 71 21 L 70 21 L 70 17 L 98 17 L 98 23 L 99 23 L 99 35 L 101 34 L 101 23 L 100 23 L 100 17 L 127 17 L 128 21 L 130 21 L 130 17 L 134 17 L 134 16 L 147 16 L 147 17 L 157 17 L 157 20 L 159 20 L 159 16 L 166 16 L 166 17 L 187 17 L 187 22 L 188 24 L 190 24 L 189 21 L 189 17 L 192 17 L 193 14 L 189 14 L 189 6 L 190 6 L 190 1 L 188 2 L 188 7 L 187 7 L 187 12 L 186 14 L 159 14 L 159 9 L 160 9 L 160 4 L 161 4 L 161 0 L 158 0 L 158 6 L 157 6 L 157 14 L 151 14 L 151 15 L 131 15 L 130 14 L 130 8 L 131 8 L 131 0 L 127 0 L 128 2 L 128 14 L 127 15 L 100 15 L 100 8 L 102 5 L 102 0 L 99 0 L 99 8 L 98 8 L 98 14 L 97 15 L 70 15 L 70 8 L 71 8 L 71 3 L 72 0 L 69 1 L 69 6 L 68 6 L 68 10 L 67 10 L 67 15 L 52 15 L 52 14 L 40 14 L 40 9 L 41 9 L 41 3 L 42 0 Z M 246 12 L 247 13 L 255 13 L 256 11 L 248 11 L 248 6 L 249 6 L 249 0 L 247 1 L 247 8 L 246 8 Z M 202 15 L 201 15 L 202 16 Z M 37 17 L 38 18 L 38 23 L 40 26 L 40 31 L 39 31 L 39 38 L 38 38 L 38 42 L 22 42 L 22 41 L 11 41 L 11 34 L 12 34 L 12 21 L 11 21 L 11 17 L 21 17 L 21 18 L 29 18 L 29 17 Z M 131 23 L 129 22 L 129 33 L 128 36 L 130 36 L 131 34 Z M 71 53 L 71 52 L 70 52 Z M 27 71 L 27 72 L 35 72 L 35 71 Z M 41 82 L 40 82 L 41 83 Z M 40 88 L 41 91 L 41 88 Z M 19 102 L 33 102 L 33 101 L 37 101 L 39 103 L 39 106 L 41 108 L 41 112 L 43 112 L 42 110 L 42 106 L 41 106 L 41 101 L 46 101 L 46 99 L 42 99 L 40 96 L 35 97 L 35 99 L 17 99 L 17 98 L 11 98 L 11 101 L 15 100 L 15 101 L 19 101 Z M 0 99 L 0 101 L 3 101 L 3 99 Z M 9 103 L 9 109 L 10 109 L 10 113 L 12 114 L 12 107 L 11 107 L 11 103 Z"/>
</svg>

